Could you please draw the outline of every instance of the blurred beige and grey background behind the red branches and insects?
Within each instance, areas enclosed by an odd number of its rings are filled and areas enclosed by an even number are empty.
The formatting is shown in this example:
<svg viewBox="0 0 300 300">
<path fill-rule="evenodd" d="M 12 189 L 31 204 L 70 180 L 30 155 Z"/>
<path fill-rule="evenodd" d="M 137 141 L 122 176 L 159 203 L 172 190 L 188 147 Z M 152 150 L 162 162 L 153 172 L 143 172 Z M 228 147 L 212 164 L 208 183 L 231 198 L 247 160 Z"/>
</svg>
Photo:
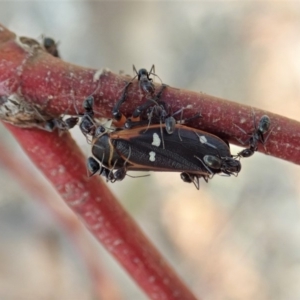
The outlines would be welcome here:
<svg viewBox="0 0 300 300">
<path fill-rule="evenodd" d="M 127 74 L 155 64 L 171 86 L 300 119 L 300 2 L 1 2 L 0 23 L 54 38 L 74 64 Z M 147 299 L 3 125 L 0 137 L 17 163 L 0 161 L 0 299 L 99 299 L 97 286 L 103 299 Z M 299 166 L 260 153 L 242 164 L 200 191 L 171 173 L 109 185 L 198 297 L 300 299 Z"/>
</svg>

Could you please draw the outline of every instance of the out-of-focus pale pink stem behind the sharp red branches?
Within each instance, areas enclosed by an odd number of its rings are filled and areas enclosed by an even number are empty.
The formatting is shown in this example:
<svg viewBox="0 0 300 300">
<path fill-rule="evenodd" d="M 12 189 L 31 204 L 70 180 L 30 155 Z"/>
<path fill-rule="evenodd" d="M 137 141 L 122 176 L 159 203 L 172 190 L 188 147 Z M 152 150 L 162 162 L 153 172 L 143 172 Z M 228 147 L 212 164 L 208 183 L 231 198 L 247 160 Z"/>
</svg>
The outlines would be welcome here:
<svg viewBox="0 0 300 300">
<path fill-rule="evenodd" d="M 102 269 L 100 262 L 97 261 L 99 258 L 94 249 L 95 247 L 91 243 L 87 243 L 83 224 L 76 215 L 58 207 L 58 202 L 54 201 L 58 197 L 54 190 L 46 186 L 39 177 L 28 176 L 31 172 L 29 167 L 20 164 L 20 160 L 16 159 L 4 145 L 0 145 L 0 162 L 12 173 L 19 184 L 28 190 L 35 200 L 40 201 L 48 209 L 53 218 L 66 230 L 90 274 L 95 295 L 99 299 L 121 299 L 116 283 L 106 274 L 107 272 Z"/>
</svg>

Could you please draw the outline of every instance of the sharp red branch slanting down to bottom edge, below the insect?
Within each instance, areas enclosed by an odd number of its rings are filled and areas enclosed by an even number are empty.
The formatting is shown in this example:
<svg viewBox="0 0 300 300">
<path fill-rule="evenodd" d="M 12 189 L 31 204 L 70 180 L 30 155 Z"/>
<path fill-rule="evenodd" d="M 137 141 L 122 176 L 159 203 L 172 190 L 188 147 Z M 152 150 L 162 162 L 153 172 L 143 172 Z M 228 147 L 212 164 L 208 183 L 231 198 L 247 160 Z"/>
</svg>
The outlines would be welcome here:
<svg viewBox="0 0 300 300">
<path fill-rule="evenodd" d="M 61 138 L 57 133 L 6 126 L 64 201 L 149 297 L 195 299 L 101 178 L 87 177 L 85 159 L 68 133 Z"/>
</svg>

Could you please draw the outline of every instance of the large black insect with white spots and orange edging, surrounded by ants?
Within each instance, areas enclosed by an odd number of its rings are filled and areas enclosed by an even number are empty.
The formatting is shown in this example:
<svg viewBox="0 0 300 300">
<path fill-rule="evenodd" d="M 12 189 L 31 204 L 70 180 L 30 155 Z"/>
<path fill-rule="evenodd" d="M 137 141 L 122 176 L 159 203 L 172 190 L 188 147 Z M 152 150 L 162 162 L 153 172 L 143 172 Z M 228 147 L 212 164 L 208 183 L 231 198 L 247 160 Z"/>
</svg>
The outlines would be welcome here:
<svg viewBox="0 0 300 300">
<path fill-rule="evenodd" d="M 118 121 L 123 118 L 119 108 L 128 87 L 113 109 Z M 158 105 L 155 100 L 153 103 L 154 107 Z M 91 175 L 99 173 L 115 182 L 123 180 L 127 171 L 180 172 L 183 181 L 193 182 L 199 188 L 200 178 L 207 181 L 217 173 L 236 176 L 241 170 L 240 161 L 233 158 L 228 143 L 213 134 L 176 122 L 170 125 L 167 117 L 162 122 L 161 112 L 151 116 L 154 124 L 149 124 L 147 118 L 148 124 L 140 120 L 130 129 L 97 125 L 92 106 L 93 102 L 87 98 L 80 124 L 82 132 L 92 137 L 94 157 L 87 161 Z"/>
</svg>

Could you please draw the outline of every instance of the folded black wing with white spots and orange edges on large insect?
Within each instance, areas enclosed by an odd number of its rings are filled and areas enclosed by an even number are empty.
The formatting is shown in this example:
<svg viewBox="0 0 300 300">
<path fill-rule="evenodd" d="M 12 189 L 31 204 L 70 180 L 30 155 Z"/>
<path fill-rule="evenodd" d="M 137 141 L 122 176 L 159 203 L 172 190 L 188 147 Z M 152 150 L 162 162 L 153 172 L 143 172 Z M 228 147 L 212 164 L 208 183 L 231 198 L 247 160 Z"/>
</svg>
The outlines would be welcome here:
<svg viewBox="0 0 300 300">
<path fill-rule="evenodd" d="M 207 143 L 214 147 L 201 143 L 195 131 L 205 136 Z M 230 155 L 227 145 L 221 139 L 182 125 L 176 125 L 171 135 L 160 124 L 117 131 L 111 134 L 111 142 L 123 160 L 128 161 L 128 170 L 210 174 L 199 158 L 202 159 L 207 153 L 216 155 L 222 152 L 226 156 Z"/>
</svg>

